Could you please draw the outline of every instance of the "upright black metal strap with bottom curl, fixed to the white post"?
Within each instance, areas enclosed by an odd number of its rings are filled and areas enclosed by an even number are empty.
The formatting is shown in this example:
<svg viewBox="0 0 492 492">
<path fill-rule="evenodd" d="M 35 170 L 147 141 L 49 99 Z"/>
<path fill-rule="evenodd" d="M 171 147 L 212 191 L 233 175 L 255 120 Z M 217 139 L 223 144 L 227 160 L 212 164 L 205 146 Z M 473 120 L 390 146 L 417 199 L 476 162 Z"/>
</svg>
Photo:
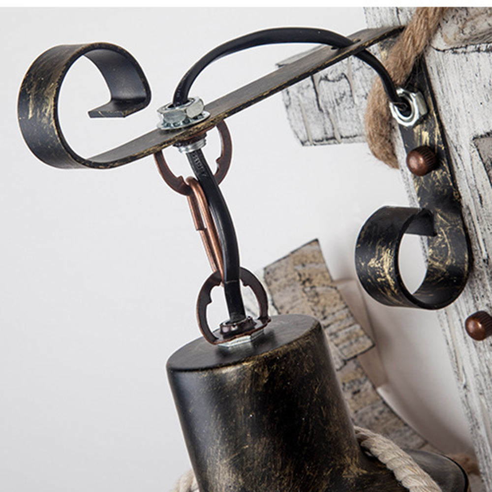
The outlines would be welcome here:
<svg viewBox="0 0 492 492">
<path fill-rule="evenodd" d="M 371 215 L 357 239 L 355 264 L 363 287 L 380 303 L 439 309 L 451 304 L 463 290 L 470 270 L 471 250 L 448 147 L 423 60 L 414 66 L 405 88 L 420 92 L 428 110 L 413 127 L 400 126 L 405 151 L 410 153 L 425 146 L 436 159 L 426 174 L 412 175 L 421 208 L 383 207 Z M 404 234 L 427 237 L 427 273 L 414 293 L 408 291 L 400 275 L 399 249 Z"/>
</svg>

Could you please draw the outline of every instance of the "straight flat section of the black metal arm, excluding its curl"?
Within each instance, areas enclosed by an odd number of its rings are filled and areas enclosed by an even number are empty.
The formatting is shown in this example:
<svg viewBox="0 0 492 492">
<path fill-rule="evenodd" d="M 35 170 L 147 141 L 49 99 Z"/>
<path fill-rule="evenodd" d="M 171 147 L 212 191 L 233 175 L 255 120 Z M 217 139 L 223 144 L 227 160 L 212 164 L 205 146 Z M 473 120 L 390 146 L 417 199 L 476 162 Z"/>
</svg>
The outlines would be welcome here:
<svg viewBox="0 0 492 492">
<path fill-rule="evenodd" d="M 196 125 L 182 130 L 155 129 L 131 140 L 115 149 L 90 157 L 92 161 L 85 165 L 97 168 L 117 167 L 169 147 L 177 142 L 186 140 L 194 134 L 215 126 L 220 121 L 232 116 L 247 107 L 266 99 L 268 96 L 282 91 L 296 82 L 312 74 L 334 65 L 349 56 L 365 50 L 369 46 L 386 38 L 397 35 L 402 27 L 366 29 L 356 32 L 350 39 L 360 39 L 357 43 L 343 49 L 333 49 L 329 46 L 308 53 L 298 60 L 281 66 L 240 89 L 230 92 L 206 106 L 210 117 Z"/>
</svg>

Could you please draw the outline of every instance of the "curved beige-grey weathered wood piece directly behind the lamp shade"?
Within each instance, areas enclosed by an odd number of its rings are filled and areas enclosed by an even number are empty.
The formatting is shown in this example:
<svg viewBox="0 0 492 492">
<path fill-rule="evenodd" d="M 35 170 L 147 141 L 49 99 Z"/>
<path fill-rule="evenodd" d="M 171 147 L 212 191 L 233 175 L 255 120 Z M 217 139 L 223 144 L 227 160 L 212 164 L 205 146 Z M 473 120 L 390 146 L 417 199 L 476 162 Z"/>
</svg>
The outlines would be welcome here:
<svg viewBox="0 0 492 492">
<path fill-rule="evenodd" d="M 373 347 L 352 316 L 325 264 L 317 240 L 267 266 L 262 277 L 279 314 L 307 314 L 323 326 L 338 380 L 355 425 L 384 434 L 404 448 L 432 451 L 381 399 L 357 356 Z"/>
</svg>

